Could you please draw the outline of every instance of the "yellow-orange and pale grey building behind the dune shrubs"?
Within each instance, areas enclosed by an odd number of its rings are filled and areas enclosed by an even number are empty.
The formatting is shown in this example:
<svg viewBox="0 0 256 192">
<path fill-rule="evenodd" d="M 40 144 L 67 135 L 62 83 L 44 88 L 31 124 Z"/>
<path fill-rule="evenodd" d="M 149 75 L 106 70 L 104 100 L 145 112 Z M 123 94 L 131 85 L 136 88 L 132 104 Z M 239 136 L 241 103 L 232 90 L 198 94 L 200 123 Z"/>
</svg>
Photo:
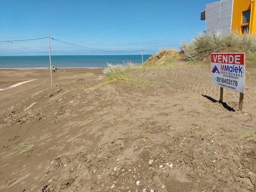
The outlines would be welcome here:
<svg viewBox="0 0 256 192">
<path fill-rule="evenodd" d="M 256 34 L 255 3 L 256 0 L 225 0 L 205 5 L 201 20 L 205 20 L 206 34 Z"/>
</svg>

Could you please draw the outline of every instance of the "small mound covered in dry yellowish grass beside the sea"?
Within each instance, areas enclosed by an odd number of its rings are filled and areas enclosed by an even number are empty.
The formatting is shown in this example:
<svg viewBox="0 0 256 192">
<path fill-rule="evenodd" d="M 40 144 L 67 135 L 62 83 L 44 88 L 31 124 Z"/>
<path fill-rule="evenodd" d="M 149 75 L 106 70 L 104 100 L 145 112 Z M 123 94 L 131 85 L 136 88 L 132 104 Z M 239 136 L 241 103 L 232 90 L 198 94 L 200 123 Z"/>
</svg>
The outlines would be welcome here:
<svg viewBox="0 0 256 192">
<path fill-rule="evenodd" d="M 164 63 L 173 63 L 174 61 L 178 60 L 179 53 L 174 50 L 161 50 L 159 53 L 152 55 L 150 58 L 148 58 L 143 65 L 144 66 L 157 66 L 157 65 L 164 65 Z"/>
</svg>

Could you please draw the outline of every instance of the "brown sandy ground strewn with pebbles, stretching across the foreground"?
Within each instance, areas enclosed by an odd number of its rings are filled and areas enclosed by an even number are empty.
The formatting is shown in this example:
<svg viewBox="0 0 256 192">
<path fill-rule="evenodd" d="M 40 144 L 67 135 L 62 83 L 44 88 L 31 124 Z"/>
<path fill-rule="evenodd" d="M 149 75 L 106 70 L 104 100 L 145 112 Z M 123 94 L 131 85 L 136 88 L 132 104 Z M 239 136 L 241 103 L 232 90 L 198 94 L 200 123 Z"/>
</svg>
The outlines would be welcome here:
<svg viewBox="0 0 256 192">
<path fill-rule="evenodd" d="M 205 68 L 101 74 L 1 70 L 0 89 L 31 80 L 0 91 L 1 191 L 255 191 L 254 80 L 239 111 Z"/>
</svg>

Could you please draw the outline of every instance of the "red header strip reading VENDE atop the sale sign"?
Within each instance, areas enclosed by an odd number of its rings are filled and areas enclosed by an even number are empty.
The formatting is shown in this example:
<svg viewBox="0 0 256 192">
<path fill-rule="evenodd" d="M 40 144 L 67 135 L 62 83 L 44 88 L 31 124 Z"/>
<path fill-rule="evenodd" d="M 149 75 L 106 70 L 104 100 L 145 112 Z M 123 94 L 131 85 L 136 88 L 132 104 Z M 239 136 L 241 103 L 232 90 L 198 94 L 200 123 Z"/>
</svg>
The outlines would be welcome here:
<svg viewBox="0 0 256 192">
<path fill-rule="evenodd" d="M 244 53 L 211 53 L 210 62 L 244 65 Z"/>
</svg>

